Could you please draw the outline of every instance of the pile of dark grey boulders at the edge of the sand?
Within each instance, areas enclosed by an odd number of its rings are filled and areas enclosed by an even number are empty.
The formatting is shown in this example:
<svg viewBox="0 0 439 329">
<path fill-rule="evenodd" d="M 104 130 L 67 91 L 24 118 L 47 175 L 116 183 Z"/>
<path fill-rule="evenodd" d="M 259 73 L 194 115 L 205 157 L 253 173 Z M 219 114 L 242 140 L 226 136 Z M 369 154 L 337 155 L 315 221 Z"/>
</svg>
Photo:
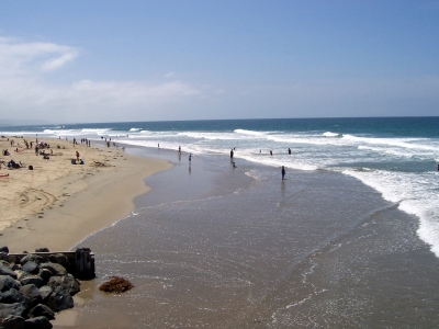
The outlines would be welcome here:
<svg viewBox="0 0 439 329">
<path fill-rule="evenodd" d="M 48 260 L 27 253 L 11 261 L 8 254 L 8 247 L 0 248 L 0 329 L 52 328 L 55 313 L 74 307 L 80 291 L 67 273 L 69 260 L 63 253 Z"/>
</svg>

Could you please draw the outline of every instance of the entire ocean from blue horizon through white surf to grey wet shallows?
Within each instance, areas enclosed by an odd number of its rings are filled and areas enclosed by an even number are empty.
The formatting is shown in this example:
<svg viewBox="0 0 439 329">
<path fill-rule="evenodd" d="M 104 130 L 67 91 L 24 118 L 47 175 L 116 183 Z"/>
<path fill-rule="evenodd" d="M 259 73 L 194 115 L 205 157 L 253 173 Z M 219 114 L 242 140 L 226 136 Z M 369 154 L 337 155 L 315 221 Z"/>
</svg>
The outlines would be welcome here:
<svg viewBox="0 0 439 329">
<path fill-rule="evenodd" d="M 376 117 L 0 132 L 111 140 L 175 164 L 146 180 L 153 190 L 131 216 L 80 242 L 97 252 L 98 279 L 78 328 L 97 314 L 106 321 L 90 328 L 431 328 L 438 127 L 439 117 Z M 102 296 L 93 285 L 109 275 L 136 288 Z"/>
</svg>

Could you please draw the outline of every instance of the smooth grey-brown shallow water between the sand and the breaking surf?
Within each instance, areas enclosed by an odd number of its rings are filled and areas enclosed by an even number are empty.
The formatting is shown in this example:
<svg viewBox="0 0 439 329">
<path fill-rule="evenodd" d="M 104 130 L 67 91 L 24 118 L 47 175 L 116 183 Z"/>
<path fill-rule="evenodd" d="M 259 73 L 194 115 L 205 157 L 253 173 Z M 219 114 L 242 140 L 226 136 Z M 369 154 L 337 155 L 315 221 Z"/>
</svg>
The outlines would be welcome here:
<svg viewBox="0 0 439 329">
<path fill-rule="evenodd" d="M 417 218 L 341 173 L 178 159 L 134 215 L 89 237 L 76 328 L 431 328 L 439 262 Z M 105 296 L 122 275 L 135 288 Z"/>
</svg>

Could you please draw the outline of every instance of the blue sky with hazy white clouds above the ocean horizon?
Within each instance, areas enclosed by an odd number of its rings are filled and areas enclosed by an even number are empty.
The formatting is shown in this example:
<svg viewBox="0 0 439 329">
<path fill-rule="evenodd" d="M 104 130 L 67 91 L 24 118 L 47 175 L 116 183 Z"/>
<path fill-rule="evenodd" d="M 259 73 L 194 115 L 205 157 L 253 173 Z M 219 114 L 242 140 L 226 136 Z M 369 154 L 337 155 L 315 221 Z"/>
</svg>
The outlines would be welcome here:
<svg viewBox="0 0 439 329">
<path fill-rule="evenodd" d="M 438 114 L 438 0 L 0 1 L 0 124 Z"/>
</svg>

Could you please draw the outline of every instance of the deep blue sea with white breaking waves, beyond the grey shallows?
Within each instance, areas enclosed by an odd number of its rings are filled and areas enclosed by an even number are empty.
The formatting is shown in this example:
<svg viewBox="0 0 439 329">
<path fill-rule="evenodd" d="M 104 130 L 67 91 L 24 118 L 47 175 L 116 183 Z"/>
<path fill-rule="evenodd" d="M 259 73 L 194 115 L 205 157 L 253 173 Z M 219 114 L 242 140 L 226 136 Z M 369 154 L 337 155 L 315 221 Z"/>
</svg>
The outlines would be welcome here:
<svg viewBox="0 0 439 329">
<path fill-rule="evenodd" d="M 185 154 L 204 156 L 227 156 L 235 149 L 236 164 L 244 159 L 271 168 L 339 172 L 416 215 L 419 238 L 439 257 L 438 127 L 439 117 L 376 117 L 98 123 L 0 131 L 170 150 L 181 147 Z"/>
</svg>

